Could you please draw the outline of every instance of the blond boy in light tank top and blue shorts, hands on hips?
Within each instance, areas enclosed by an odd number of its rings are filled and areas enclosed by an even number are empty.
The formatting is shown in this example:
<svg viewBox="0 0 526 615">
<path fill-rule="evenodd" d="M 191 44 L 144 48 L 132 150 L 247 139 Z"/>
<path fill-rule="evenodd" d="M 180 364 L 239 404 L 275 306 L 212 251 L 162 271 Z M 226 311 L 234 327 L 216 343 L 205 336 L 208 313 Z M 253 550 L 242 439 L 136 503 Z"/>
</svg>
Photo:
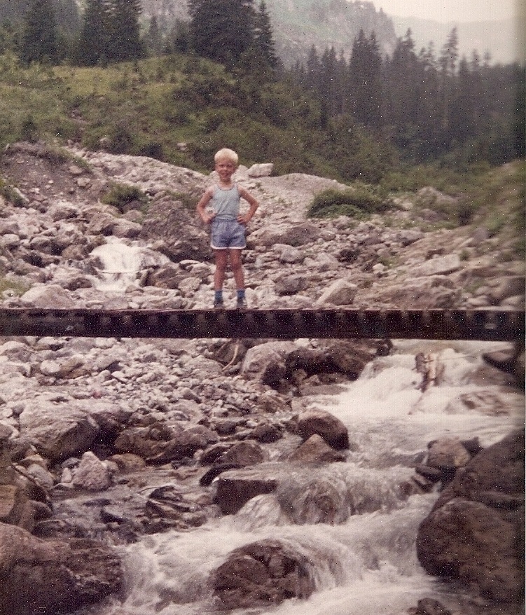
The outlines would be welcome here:
<svg viewBox="0 0 526 615">
<path fill-rule="evenodd" d="M 258 202 L 245 188 L 237 186 L 232 180 L 237 169 L 237 160 L 237 153 L 231 149 L 223 148 L 216 153 L 214 168 L 219 175 L 219 181 L 207 188 L 196 207 L 202 221 L 211 227 L 210 246 L 214 251 L 216 263 L 214 307 L 219 309 L 224 307 L 223 282 L 229 260 L 237 288 L 237 307 L 247 307 L 241 251 L 247 247 L 245 226 L 256 213 Z M 240 198 L 244 198 L 250 205 L 249 211 L 244 214 L 240 213 Z M 207 205 L 210 205 L 211 209 L 206 209 Z"/>
</svg>

